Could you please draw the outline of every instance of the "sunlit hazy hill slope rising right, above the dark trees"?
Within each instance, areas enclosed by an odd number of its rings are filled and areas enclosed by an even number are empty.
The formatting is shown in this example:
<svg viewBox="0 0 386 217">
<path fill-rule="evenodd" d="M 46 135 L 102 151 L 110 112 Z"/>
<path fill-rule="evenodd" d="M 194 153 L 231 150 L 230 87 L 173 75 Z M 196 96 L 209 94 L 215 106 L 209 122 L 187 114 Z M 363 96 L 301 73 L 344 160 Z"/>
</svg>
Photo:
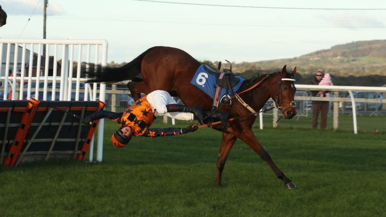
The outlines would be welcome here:
<svg viewBox="0 0 386 217">
<path fill-rule="evenodd" d="M 386 40 L 357 41 L 318 50 L 290 59 L 277 59 L 234 65 L 238 73 L 278 71 L 281 67 L 297 67 L 303 75 L 323 70 L 336 76 L 386 76 Z"/>
</svg>

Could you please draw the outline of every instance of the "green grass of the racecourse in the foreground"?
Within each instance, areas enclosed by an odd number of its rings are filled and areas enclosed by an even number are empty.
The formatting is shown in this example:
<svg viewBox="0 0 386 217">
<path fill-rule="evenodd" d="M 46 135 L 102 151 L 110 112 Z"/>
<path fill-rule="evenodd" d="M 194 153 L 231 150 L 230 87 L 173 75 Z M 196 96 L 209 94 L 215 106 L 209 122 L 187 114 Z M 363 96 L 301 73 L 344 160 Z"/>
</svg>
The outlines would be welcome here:
<svg viewBox="0 0 386 217">
<path fill-rule="evenodd" d="M 186 122 L 179 126 L 185 127 Z M 0 167 L 0 216 L 369 217 L 386 213 L 385 134 L 254 129 L 297 184 L 286 189 L 240 140 L 222 187 L 213 185 L 221 134 L 211 129 L 110 143 L 102 163 L 40 162 Z M 154 124 L 153 127 L 169 125 Z"/>
</svg>

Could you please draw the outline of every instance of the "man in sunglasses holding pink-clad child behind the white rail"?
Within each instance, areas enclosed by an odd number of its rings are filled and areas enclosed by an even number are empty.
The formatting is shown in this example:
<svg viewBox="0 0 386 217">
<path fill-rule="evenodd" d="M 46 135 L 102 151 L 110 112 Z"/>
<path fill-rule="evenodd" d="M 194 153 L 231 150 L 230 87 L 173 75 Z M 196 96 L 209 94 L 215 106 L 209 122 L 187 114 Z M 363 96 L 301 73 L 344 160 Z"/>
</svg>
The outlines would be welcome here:
<svg viewBox="0 0 386 217">
<path fill-rule="evenodd" d="M 328 76 L 326 76 L 326 81 L 322 82 L 323 73 L 320 70 L 318 70 L 316 72 L 315 79 L 311 80 L 311 84 L 313 84 L 313 85 L 326 85 L 323 83 L 328 83 L 328 80 L 332 84 L 330 74 L 326 73 L 326 75 L 328 75 Z M 328 78 L 330 78 L 330 79 L 328 79 Z M 322 84 L 320 84 L 320 83 L 322 83 Z M 328 85 L 331 85 L 331 84 L 328 84 Z M 314 90 L 311 92 L 312 92 L 313 97 L 327 97 L 327 94 L 329 91 Z M 320 113 L 320 128 L 321 129 L 327 128 L 328 105 L 329 105 L 328 101 L 312 101 L 312 128 L 313 129 L 316 129 L 318 127 L 319 113 Z"/>
</svg>

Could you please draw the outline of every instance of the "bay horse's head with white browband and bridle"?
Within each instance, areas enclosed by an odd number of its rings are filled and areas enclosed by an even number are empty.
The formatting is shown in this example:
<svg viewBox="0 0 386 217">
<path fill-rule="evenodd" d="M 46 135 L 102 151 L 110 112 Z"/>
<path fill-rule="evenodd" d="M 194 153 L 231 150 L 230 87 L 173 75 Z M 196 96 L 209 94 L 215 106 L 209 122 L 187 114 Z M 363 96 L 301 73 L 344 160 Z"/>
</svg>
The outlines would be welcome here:
<svg viewBox="0 0 386 217">
<path fill-rule="evenodd" d="M 275 100 L 276 107 L 283 113 L 283 117 L 291 119 L 296 115 L 295 104 L 295 92 L 296 87 L 294 85 L 296 67 L 292 70 L 292 73 L 287 73 L 287 70 L 283 67 L 282 72 L 276 75 L 277 86 L 274 91 L 271 92 L 271 98 Z"/>
</svg>

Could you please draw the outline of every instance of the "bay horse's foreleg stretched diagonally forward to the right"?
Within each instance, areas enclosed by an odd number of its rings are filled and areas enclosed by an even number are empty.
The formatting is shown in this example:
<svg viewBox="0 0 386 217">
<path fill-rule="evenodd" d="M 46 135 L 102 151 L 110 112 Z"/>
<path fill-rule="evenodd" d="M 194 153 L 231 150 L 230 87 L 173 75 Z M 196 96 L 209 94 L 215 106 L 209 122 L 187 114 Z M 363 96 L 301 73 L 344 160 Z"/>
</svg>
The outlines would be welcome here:
<svg viewBox="0 0 386 217">
<path fill-rule="evenodd" d="M 242 132 L 236 134 L 238 138 L 243 140 L 252 150 L 254 150 L 267 164 L 272 168 L 273 172 L 276 174 L 277 178 L 283 180 L 287 188 L 296 188 L 296 185 L 288 179 L 284 173 L 273 163 L 272 158 L 269 156 L 268 152 L 264 150 L 260 142 L 256 139 L 251 129 L 243 129 Z"/>
</svg>

